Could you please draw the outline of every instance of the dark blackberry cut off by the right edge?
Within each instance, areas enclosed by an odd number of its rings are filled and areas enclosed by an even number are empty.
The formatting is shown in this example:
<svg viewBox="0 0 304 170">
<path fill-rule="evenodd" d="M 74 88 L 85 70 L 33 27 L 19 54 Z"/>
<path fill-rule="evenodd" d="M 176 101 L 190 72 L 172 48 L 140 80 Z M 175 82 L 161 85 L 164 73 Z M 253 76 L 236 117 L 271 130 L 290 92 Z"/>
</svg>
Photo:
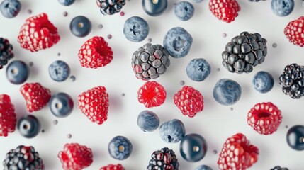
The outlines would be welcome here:
<svg viewBox="0 0 304 170">
<path fill-rule="evenodd" d="M 304 96 L 304 67 L 298 64 L 287 65 L 281 74 L 280 86 L 284 94 L 291 98 Z"/>
</svg>

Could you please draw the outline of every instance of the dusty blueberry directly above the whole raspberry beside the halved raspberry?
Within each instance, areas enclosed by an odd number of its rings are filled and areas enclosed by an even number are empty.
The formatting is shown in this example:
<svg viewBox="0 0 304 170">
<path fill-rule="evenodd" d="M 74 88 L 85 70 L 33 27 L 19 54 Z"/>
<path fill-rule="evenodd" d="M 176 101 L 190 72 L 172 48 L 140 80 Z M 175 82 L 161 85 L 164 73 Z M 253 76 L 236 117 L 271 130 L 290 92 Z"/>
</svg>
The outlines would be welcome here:
<svg viewBox="0 0 304 170">
<path fill-rule="evenodd" d="M 205 80 L 211 72 L 209 63 L 202 58 L 191 60 L 186 68 L 186 73 L 189 79 L 193 81 Z"/>
</svg>

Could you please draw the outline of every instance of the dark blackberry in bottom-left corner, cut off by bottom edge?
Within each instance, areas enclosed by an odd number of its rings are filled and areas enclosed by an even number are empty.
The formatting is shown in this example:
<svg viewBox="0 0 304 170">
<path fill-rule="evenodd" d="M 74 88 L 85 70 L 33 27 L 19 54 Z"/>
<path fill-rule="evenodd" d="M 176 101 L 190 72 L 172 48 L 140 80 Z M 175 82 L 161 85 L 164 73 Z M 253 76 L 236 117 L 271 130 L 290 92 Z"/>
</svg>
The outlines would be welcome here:
<svg viewBox="0 0 304 170">
<path fill-rule="evenodd" d="M 35 148 L 23 145 L 18 146 L 16 149 L 11 149 L 6 154 L 3 165 L 4 170 L 45 169 L 43 159 L 39 157 L 38 152 L 35 152 Z"/>
</svg>

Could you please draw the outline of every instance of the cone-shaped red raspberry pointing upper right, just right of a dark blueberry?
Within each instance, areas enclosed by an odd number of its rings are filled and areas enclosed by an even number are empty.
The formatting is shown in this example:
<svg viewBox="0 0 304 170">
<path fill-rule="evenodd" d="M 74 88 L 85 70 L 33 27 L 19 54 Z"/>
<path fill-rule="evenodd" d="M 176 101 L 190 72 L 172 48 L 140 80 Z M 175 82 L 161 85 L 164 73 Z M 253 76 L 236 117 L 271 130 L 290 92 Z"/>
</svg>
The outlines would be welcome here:
<svg viewBox="0 0 304 170">
<path fill-rule="evenodd" d="M 78 96 L 78 107 L 92 122 L 101 125 L 108 116 L 108 94 L 106 88 L 97 86 Z"/>
</svg>

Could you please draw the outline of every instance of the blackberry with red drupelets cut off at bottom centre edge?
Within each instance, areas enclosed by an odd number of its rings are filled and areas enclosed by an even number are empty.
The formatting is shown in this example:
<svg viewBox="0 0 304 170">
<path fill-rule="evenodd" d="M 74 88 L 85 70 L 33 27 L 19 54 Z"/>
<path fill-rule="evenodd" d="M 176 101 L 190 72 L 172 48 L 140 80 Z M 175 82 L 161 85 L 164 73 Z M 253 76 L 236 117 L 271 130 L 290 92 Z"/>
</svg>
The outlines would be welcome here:
<svg viewBox="0 0 304 170">
<path fill-rule="evenodd" d="M 179 169 L 179 162 L 177 162 L 174 151 L 167 147 L 154 151 L 151 157 L 147 170 Z"/>
</svg>

